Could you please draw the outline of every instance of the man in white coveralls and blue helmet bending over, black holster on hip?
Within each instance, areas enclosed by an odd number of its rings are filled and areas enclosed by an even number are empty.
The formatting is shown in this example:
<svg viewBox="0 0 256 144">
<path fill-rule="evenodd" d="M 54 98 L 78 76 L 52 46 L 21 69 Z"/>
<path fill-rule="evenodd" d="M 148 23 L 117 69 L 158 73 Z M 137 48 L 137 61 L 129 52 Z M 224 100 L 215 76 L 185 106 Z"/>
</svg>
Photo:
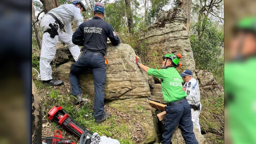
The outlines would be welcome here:
<svg viewBox="0 0 256 144">
<path fill-rule="evenodd" d="M 69 51 L 75 61 L 78 59 L 80 49 L 72 43 L 71 21 L 76 20 L 77 26 L 83 23 L 81 12 L 85 12 L 84 4 L 81 0 L 75 0 L 72 4 L 62 4 L 50 10 L 43 17 L 40 26 L 44 31 L 42 40 L 42 50 L 40 56 L 41 80 L 49 85 L 61 85 L 63 81 L 52 78 L 52 68 L 50 66 L 56 53 L 56 45 L 61 41 L 68 45 Z M 66 32 L 61 31 L 64 27 Z"/>
</svg>

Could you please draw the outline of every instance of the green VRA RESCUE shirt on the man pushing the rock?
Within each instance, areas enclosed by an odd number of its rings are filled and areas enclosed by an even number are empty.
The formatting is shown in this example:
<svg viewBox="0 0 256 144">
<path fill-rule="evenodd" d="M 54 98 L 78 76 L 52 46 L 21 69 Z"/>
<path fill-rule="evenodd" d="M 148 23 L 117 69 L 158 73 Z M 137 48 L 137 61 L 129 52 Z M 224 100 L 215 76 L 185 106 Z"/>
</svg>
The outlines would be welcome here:
<svg viewBox="0 0 256 144">
<path fill-rule="evenodd" d="M 175 68 L 149 68 L 148 75 L 161 79 L 162 93 L 165 102 L 181 100 L 187 96 L 182 90 L 183 79 Z"/>
</svg>

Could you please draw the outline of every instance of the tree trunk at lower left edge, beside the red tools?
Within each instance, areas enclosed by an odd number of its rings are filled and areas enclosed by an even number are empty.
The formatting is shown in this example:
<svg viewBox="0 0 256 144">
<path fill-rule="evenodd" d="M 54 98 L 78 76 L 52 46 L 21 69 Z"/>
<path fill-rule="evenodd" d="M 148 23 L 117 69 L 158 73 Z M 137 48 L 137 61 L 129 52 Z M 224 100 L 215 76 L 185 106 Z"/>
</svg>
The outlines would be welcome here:
<svg viewBox="0 0 256 144">
<path fill-rule="evenodd" d="M 32 80 L 32 144 L 42 143 L 42 113 L 39 94 Z"/>
</svg>

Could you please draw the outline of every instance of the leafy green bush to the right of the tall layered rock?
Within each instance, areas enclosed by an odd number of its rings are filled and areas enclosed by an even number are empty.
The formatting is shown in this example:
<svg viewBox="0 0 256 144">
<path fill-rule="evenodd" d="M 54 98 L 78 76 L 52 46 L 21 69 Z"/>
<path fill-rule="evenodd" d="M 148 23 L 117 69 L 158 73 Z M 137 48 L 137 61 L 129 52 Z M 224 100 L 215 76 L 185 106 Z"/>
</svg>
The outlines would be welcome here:
<svg viewBox="0 0 256 144">
<path fill-rule="evenodd" d="M 190 44 L 196 63 L 196 68 L 210 70 L 223 84 L 224 57 L 221 48 L 224 46 L 223 31 L 217 30 L 212 22 L 205 18 L 190 26 Z"/>
</svg>

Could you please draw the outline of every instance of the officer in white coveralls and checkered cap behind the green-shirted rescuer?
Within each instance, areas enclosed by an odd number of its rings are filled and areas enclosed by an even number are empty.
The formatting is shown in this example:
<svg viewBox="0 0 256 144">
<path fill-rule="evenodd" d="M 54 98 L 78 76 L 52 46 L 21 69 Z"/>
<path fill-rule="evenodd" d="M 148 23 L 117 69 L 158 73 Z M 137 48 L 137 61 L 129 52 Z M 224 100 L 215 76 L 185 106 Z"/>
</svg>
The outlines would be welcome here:
<svg viewBox="0 0 256 144">
<path fill-rule="evenodd" d="M 180 76 L 186 82 L 183 87 L 185 88 L 185 92 L 187 93 L 186 99 L 191 108 L 191 116 L 192 122 L 198 128 L 199 132 L 201 133 L 201 128 L 199 125 L 199 115 L 201 112 L 202 105 L 200 103 L 200 90 L 199 90 L 199 83 L 198 81 L 193 78 L 193 74 L 191 70 L 184 70 Z"/>
</svg>

